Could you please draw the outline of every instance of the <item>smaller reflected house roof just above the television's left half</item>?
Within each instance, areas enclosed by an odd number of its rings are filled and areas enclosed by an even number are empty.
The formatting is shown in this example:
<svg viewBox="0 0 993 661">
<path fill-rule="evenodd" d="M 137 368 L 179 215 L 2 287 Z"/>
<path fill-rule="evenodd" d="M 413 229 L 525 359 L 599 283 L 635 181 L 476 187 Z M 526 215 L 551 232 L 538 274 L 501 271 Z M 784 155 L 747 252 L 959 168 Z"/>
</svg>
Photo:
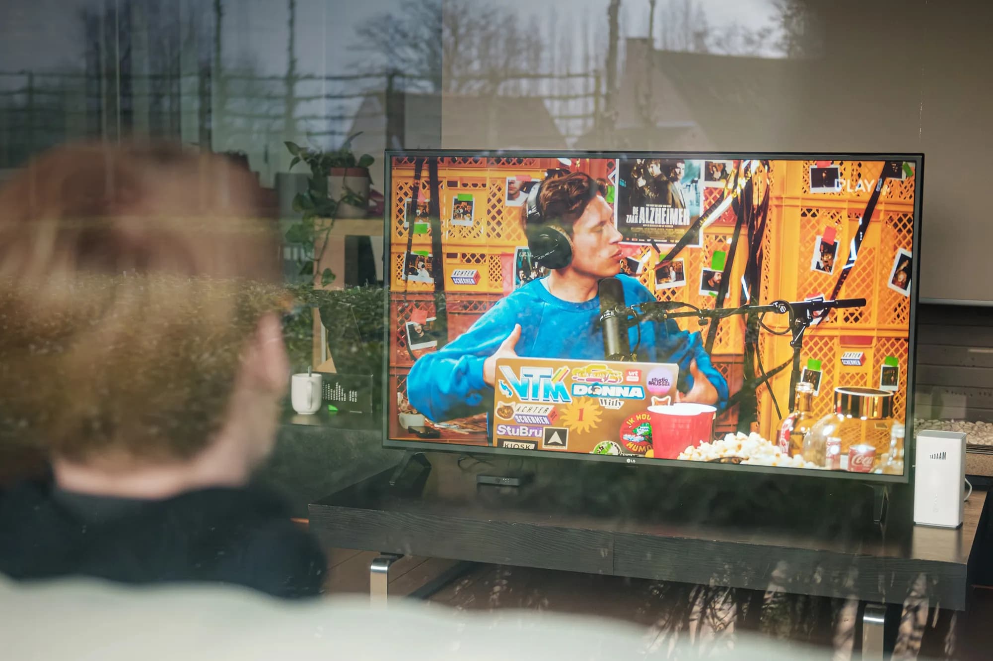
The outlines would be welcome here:
<svg viewBox="0 0 993 661">
<path fill-rule="evenodd" d="M 349 134 L 356 153 L 391 149 L 566 149 L 540 96 L 367 94 Z"/>
</svg>

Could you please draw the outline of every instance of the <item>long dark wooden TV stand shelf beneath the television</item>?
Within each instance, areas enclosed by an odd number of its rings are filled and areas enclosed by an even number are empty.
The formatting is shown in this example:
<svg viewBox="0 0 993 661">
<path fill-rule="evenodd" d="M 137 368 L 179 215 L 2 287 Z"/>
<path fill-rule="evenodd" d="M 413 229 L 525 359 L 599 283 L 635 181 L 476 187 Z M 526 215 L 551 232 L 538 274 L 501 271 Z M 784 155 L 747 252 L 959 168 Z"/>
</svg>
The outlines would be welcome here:
<svg viewBox="0 0 993 661">
<path fill-rule="evenodd" d="M 966 503 L 965 524 L 946 530 L 896 525 L 894 512 L 873 525 L 872 491 L 858 483 L 847 488 L 867 511 L 839 510 L 847 496 L 831 497 L 824 483 L 815 485 L 824 494 L 817 504 L 785 497 L 775 483 L 736 495 L 710 471 L 541 463 L 531 483 L 503 488 L 476 483 L 476 472 L 495 471 L 491 463 L 430 454 L 431 470 L 415 471 L 403 488 L 390 485 L 390 468 L 311 503 L 311 527 L 330 547 L 751 590 L 766 590 L 786 568 L 787 592 L 881 603 L 902 602 L 923 573 L 935 579 L 933 602 L 965 607 L 984 491 Z"/>
</svg>

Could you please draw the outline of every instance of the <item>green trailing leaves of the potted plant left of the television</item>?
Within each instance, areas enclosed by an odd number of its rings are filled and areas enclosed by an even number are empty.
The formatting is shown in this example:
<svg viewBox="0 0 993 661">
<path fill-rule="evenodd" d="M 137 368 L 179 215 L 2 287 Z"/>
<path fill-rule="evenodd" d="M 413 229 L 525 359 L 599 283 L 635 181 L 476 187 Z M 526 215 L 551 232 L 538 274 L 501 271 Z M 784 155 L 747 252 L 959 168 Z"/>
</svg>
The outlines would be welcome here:
<svg viewBox="0 0 993 661">
<path fill-rule="evenodd" d="M 311 176 L 307 180 L 307 191 L 293 198 L 293 210 L 300 213 L 300 220 L 286 231 L 287 242 L 301 248 L 302 257 L 298 260 L 300 275 L 313 273 L 314 265 L 321 263 L 328 245 L 328 235 L 335 224 L 341 205 L 352 204 L 364 208 L 368 203 L 367 198 L 348 186 L 343 187 L 344 192 L 338 199 L 331 198 L 328 190 L 328 178 L 333 170 L 361 168 L 368 175 L 368 168 L 375 159 L 368 154 L 355 158 L 352 141 L 358 135 L 360 132 L 350 135 L 340 148 L 330 152 L 302 147 L 290 141 L 284 143 L 286 149 L 293 155 L 290 170 L 303 162 L 311 171 Z M 316 252 L 318 246 L 320 246 L 320 254 Z M 334 281 L 335 274 L 331 269 L 324 269 L 321 273 L 321 285 L 330 285 Z"/>
</svg>

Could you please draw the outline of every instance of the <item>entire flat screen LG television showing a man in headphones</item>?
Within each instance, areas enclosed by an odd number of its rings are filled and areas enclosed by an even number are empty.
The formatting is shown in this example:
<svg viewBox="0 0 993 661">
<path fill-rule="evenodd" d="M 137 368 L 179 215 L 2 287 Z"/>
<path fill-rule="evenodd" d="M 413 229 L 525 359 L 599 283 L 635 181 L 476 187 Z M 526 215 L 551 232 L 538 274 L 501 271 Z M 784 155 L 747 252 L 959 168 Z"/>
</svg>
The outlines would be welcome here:
<svg viewBox="0 0 993 661">
<path fill-rule="evenodd" d="M 384 444 L 907 481 L 922 165 L 387 152 Z"/>
</svg>

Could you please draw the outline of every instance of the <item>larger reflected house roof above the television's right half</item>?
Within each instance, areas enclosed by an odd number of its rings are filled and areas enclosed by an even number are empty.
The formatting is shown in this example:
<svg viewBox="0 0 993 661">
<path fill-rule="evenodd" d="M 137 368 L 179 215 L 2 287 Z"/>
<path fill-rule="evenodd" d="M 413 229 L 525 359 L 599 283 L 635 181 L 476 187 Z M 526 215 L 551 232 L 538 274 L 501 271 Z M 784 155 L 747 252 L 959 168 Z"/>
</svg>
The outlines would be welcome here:
<svg viewBox="0 0 993 661">
<path fill-rule="evenodd" d="M 851 39 L 850 25 L 832 29 Z M 886 35 L 888 46 L 895 34 Z M 884 52 L 874 43 L 872 53 Z M 886 151 L 918 139 L 921 82 L 913 67 L 856 75 L 828 57 L 660 51 L 643 38 L 626 40 L 624 53 L 616 117 L 604 119 L 613 130 L 588 134 L 580 148 Z M 858 62 L 872 59 L 862 54 Z"/>
</svg>

